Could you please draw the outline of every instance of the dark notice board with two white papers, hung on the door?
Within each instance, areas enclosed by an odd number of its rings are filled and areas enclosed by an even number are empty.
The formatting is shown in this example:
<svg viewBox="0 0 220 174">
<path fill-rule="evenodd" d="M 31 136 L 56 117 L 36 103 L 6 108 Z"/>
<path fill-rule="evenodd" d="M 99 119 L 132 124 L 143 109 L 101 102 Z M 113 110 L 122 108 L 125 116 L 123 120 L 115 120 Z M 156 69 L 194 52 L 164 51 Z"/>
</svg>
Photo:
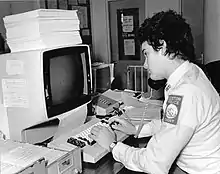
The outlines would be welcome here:
<svg viewBox="0 0 220 174">
<path fill-rule="evenodd" d="M 139 9 L 117 10 L 119 60 L 140 60 Z"/>
</svg>

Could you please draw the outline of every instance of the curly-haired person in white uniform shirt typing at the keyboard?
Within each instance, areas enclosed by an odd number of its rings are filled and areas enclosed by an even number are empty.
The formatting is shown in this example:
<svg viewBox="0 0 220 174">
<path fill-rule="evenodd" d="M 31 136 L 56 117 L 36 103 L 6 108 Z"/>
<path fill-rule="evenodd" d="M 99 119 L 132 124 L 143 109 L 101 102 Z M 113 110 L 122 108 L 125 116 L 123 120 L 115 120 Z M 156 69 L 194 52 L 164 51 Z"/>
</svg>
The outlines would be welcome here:
<svg viewBox="0 0 220 174">
<path fill-rule="evenodd" d="M 204 72 L 192 63 L 193 37 L 185 19 L 162 11 L 141 25 L 144 66 L 153 80 L 167 79 L 163 117 L 145 124 L 139 137 L 151 136 L 145 148 L 115 142 L 115 134 L 94 127 L 91 137 L 126 168 L 150 174 L 220 173 L 220 97 Z M 135 135 L 138 126 L 114 117 L 114 129 Z M 171 170 L 175 164 L 174 171 Z"/>
</svg>

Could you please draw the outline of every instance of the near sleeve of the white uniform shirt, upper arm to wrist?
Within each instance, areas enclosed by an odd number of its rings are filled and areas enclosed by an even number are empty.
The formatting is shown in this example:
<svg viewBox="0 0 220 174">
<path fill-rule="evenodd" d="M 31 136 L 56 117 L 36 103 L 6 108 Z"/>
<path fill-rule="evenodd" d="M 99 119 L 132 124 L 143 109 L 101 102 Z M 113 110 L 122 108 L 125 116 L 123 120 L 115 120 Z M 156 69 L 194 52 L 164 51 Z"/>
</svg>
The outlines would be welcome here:
<svg viewBox="0 0 220 174">
<path fill-rule="evenodd" d="M 197 110 L 196 97 L 183 96 L 176 124 L 163 121 L 160 130 L 151 137 L 146 148 L 117 143 L 112 151 L 114 159 L 130 170 L 167 174 L 174 160 L 193 136 L 197 124 Z"/>
</svg>

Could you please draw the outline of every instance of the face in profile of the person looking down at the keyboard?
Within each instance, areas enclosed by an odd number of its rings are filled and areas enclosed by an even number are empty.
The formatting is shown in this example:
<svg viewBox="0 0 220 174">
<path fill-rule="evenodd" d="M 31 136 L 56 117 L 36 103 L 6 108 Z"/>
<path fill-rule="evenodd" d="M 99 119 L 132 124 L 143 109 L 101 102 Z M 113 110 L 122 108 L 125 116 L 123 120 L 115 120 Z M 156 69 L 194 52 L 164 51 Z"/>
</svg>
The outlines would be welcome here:
<svg viewBox="0 0 220 174">
<path fill-rule="evenodd" d="M 142 53 L 145 57 L 144 68 L 148 69 L 150 78 L 153 80 L 164 79 L 163 63 L 164 55 L 161 51 L 155 51 L 147 42 L 142 44 Z"/>
</svg>

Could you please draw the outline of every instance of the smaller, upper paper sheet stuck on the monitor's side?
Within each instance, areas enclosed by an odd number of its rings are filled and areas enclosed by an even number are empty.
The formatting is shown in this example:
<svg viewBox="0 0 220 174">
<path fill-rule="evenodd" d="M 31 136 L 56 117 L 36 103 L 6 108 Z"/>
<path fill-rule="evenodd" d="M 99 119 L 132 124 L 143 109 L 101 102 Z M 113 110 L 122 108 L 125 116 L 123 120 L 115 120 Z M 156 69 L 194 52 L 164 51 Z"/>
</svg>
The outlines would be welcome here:
<svg viewBox="0 0 220 174">
<path fill-rule="evenodd" d="M 24 74 L 24 62 L 21 60 L 7 60 L 6 72 L 8 75 Z"/>
</svg>

